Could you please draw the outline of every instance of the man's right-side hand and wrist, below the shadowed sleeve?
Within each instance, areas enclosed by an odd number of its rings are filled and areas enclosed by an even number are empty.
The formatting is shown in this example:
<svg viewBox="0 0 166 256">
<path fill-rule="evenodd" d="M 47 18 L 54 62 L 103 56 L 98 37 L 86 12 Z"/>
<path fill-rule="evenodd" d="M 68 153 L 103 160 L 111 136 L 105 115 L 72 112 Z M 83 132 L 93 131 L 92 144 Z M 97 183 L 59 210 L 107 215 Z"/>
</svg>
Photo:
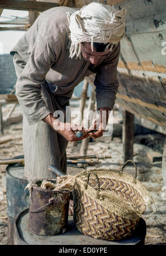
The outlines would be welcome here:
<svg viewBox="0 0 166 256">
<path fill-rule="evenodd" d="M 97 132 L 89 133 L 90 137 L 93 139 L 102 137 L 103 132 L 105 132 L 105 130 L 106 130 L 108 117 L 110 114 L 109 108 L 100 108 L 99 111 L 100 111 L 100 118 L 96 119 L 94 124 L 88 129 L 88 130 L 92 130 L 92 129 L 97 130 Z"/>
</svg>

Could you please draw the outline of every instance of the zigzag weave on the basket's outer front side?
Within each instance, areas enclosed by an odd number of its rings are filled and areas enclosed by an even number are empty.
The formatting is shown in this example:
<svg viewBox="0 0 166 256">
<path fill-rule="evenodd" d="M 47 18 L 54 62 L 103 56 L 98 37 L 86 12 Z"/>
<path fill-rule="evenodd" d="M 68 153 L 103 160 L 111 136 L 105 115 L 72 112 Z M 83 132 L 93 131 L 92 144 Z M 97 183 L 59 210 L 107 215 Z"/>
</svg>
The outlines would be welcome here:
<svg viewBox="0 0 166 256">
<path fill-rule="evenodd" d="M 74 222 L 85 235 L 96 239 L 119 240 L 131 235 L 138 224 L 108 212 L 84 192 L 75 189 Z"/>
</svg>

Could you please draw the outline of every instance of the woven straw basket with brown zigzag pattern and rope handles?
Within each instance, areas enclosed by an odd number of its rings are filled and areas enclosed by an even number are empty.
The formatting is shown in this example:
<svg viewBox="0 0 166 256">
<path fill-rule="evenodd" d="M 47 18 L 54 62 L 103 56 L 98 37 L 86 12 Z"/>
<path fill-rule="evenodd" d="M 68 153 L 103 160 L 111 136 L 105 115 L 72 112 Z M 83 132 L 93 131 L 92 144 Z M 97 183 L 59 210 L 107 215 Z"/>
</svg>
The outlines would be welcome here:
<svg viewBox="0 0 166 256">
<path fill-rule="evenodd" d="M 134 164 L 134 178 L 123 172 L 128 162 Z M 131 235 L 146 205 L 154 203 L 137 180 L 137 166 L 132 160 L 125 162 L 120 171 L 85 170 L 76 175 L 74 188 L 76 227 L 96 239 L 119 240 Z"/>
</svg>

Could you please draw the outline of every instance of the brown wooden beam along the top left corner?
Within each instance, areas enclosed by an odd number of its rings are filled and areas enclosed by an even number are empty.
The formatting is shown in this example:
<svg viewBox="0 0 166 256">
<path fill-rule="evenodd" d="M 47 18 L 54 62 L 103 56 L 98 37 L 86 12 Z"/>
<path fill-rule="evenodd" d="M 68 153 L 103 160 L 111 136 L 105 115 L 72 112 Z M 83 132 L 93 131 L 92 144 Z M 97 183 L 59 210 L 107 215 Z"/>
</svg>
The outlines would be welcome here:
<svg viewBox="0 0 166 256">
<path fill-rule="evenodd" d="M 20 11 L 44 12 L 50 8 L 59 6 L 58 3 L 33 2 L 22 0 L 1 0 L 0 8 Z"/>
</svg>

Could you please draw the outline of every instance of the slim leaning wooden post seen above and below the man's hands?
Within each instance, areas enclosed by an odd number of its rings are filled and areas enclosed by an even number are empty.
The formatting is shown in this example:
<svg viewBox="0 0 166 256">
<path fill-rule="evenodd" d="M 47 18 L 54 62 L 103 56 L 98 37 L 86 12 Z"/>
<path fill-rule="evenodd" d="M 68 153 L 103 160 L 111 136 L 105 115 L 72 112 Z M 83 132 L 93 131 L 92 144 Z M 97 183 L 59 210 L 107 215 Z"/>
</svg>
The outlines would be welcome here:
<svg viewBox="0 0 166 256">
<path fill-rule="evenodd" d="M 96 100 L 96 93 L 95 93 L 95 86 L 93 86 L 92 91 L 91 91 L 91 97 L 89 99 L 88 111 L 95 110 L 95 100 Z M 80 155 L 87 154 L 87 148 L 88 148 L 89 141 L 90 141 L 90 137 L 82 140 L 81 148 L 80 148 Z"/>
</svg>

